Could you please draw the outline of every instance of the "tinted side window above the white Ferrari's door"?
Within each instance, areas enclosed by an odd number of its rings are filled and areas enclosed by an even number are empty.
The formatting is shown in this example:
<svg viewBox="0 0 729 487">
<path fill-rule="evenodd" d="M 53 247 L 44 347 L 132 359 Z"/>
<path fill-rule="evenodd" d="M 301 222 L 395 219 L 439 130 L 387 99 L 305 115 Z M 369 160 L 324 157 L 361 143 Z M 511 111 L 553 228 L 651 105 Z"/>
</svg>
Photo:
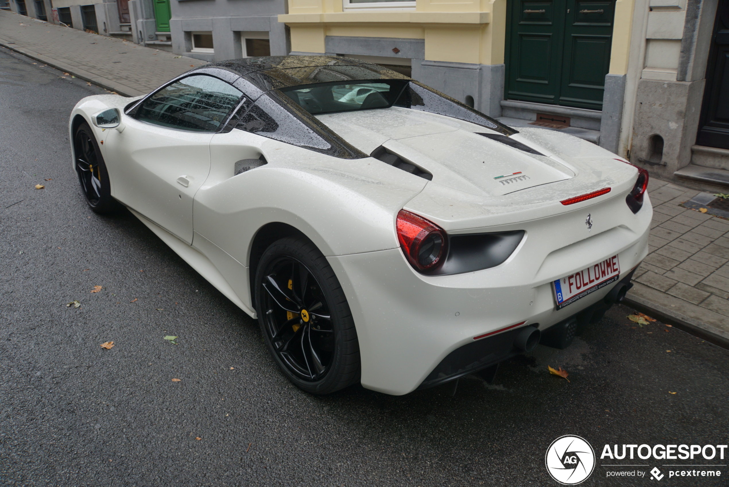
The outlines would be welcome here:
<svg viewBox="0 0 729 487">
<path fill-rule="evenodd" d="M 198 74 L 154 93 L 141 104 L 136 118 L 164 127 L 216 132 L 241 96 L 222 79 Z"/>
</svg>

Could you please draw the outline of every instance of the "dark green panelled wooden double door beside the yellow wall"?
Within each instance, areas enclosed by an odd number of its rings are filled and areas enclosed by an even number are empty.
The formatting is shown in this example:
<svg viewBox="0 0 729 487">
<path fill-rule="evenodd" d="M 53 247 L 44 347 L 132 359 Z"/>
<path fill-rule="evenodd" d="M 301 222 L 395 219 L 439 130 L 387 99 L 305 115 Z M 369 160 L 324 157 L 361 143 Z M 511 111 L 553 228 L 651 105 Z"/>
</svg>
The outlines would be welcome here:
<svg viewBox="0 0 729 487">
<path fill-rule="evenodd" d="M 511 0 L 506 97 L 602 109 L 615 0 Z"/>
</svg>

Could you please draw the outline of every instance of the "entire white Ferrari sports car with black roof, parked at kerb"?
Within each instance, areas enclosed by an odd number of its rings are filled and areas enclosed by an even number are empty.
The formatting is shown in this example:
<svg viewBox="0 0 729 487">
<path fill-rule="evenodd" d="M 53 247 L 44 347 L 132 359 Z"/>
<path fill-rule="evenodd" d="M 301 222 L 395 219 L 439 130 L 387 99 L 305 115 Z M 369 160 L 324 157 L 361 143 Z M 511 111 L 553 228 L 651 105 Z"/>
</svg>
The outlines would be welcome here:
<svg viewBox="0 0 729 487">
<path fill-rule="evenodd" d="M 127 207 L 250 316 L 281 372 L 407 394 L 569 345 L 647 253 L 647 173 L 342 57 L 211 63 L 69 121 Z"/>
</svg>

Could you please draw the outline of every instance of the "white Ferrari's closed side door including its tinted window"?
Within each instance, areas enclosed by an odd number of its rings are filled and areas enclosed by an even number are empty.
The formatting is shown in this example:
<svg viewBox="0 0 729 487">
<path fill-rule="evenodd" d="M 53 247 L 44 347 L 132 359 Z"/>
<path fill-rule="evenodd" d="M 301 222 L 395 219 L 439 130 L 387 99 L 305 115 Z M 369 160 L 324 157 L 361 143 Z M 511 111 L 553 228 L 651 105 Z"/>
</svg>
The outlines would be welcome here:
<svg viewBox="0 0 729 487">
<path fill-rule="evenodd" d="M 145 99 L 109 141 L 114 198 L 192 244 L 192 203 L 210 171 L 209 144 L 241 95 L 222 79 L 194 74 Z"/>
</svg>

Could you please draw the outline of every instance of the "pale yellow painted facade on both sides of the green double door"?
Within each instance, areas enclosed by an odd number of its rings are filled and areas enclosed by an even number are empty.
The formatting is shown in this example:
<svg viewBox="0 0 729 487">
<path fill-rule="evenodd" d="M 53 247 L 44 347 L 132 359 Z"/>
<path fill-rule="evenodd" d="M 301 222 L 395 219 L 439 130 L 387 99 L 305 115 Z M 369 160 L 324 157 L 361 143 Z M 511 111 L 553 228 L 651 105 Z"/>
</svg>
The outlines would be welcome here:
<svg viewBox="0 0 729 487">
<path fill-rule="evenodd" d="M 617 0 L 610 73 L 628 69 L 635 0 Z M 289 0 L 292 50 L 324 52 L 324 36 L 425 39 L 429 61 L 502 64 L 507 0 L 416 0 L 416 8 L 343 12 L 341 0 Z"/>
</svg>

